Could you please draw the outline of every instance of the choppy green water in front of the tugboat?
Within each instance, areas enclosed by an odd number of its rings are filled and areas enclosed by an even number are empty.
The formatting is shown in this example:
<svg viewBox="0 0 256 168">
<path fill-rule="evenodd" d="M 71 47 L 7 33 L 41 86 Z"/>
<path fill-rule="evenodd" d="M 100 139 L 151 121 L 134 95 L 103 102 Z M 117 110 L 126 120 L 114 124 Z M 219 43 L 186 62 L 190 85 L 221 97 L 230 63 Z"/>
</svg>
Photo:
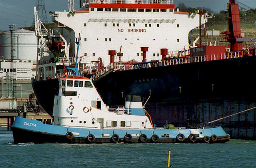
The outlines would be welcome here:
<svg viewBox="0 0 256 168">
<path fill-rule="evenodd" d="M 256 141 L 225 144 L 13 144 L 0 130 L 0 168 L 254 168 Z"/>
</svg>

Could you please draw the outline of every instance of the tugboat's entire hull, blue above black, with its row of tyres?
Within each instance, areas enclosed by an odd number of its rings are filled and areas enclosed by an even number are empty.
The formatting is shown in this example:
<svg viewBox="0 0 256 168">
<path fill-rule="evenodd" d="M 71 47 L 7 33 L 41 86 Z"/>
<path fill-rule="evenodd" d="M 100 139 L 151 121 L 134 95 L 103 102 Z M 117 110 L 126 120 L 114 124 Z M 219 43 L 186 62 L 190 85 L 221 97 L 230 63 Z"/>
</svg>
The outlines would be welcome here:
<svg viewBox="0 0 256 168">
<path fill-rule="evenodd" d="M 43 124 L 16 117 L 13 125 L 14 144 L 18 143 L 224 143 L 230 138 L 219 127 L 198 129 L 87 129 Z M 129 137 L 130 136 L 130 137 Z"/>
</svg>

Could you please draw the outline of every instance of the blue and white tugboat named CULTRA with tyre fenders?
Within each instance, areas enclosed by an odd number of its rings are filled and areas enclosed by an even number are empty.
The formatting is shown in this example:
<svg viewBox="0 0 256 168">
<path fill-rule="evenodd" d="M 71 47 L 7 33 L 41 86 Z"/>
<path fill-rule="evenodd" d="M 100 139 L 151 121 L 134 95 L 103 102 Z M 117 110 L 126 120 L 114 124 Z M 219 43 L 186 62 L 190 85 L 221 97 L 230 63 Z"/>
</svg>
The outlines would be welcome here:
<svg viewBox="0 0 256 168">
<path fill-rule="evenodd" d="M 64 74 L 54 98 L 52 124 L 16 117 L 14 143 L 223 143 L 230 135 L 220 126 L 155 128 L 140 96 L 128 95 L 124 107 L 111 110 L 89 78 Z"/>
</svg>

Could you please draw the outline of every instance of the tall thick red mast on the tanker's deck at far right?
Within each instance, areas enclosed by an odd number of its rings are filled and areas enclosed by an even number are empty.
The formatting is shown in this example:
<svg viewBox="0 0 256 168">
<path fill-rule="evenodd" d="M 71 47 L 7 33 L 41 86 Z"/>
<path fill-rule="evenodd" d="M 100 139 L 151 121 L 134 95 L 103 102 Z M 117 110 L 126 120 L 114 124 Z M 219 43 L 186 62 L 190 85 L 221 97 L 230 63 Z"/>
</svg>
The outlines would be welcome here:
<svg viewBox="0 0 256 168">
<path fill-rule="evenodd" d="M 229 0 L 228 4 L 228 31 L 222 32 L 225 34 L 226 40 L 230 42 L 230 51 L 242 50 L 242 43 L 237 42 L 236 38 L 241 38 L 241 28 L 240 28 L 240 16 L 238 4 L 235 0 Z"/>
</svg>

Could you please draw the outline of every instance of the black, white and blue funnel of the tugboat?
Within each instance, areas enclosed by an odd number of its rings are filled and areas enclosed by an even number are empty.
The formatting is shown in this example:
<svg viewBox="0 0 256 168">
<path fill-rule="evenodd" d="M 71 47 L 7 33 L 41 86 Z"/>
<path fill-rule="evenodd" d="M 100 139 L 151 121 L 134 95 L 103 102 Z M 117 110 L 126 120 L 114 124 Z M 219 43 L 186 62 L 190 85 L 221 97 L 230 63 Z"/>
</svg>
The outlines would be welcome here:
<svg viewBox="0 0 256 168">
<path fill-rule="evenodd" d="M 127 95 L 124 107 L 130 115 L 145 116 L 140 96 Z"/>
</svg>

